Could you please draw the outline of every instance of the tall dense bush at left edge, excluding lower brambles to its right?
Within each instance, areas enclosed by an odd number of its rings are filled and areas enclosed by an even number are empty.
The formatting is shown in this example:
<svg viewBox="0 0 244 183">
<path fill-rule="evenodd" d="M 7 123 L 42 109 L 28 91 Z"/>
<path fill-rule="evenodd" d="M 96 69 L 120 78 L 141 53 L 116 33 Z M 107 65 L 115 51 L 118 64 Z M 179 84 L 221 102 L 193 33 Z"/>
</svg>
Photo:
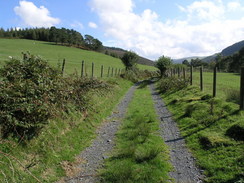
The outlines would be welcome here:
<svg viewBox="0 0 244 183">
<path fill-rule="evenodd" d="M 47 123 L 59 82 L 57 69 L 37 56 L 12 59 L 0 69 L 0 125 L 3 136 L 10 133 L 34 136 Z"/>
</svg>

